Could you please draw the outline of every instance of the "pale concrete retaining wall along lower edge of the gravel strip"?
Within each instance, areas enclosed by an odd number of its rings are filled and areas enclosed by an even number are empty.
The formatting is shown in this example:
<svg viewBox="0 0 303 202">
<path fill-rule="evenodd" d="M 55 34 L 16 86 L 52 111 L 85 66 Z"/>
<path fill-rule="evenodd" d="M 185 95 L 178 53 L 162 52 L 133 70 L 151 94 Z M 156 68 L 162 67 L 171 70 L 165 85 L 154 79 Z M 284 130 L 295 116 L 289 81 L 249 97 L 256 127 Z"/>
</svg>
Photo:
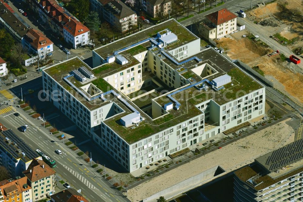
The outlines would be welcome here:
<svg viewBox="0 0 303 202">
<path fill-rule="evenodd" d="M 181 193 L 184 193 L 185 191 L 191 190 L 195 187 L 200 186 L 201 184 L 205 183 L 206 181 L 214 178 L 215 172 L 218 169 L 219 166 L 215 166 L 211 169 L 208 169 L 198 175 L 195 175 L 193 177 L 188 178 L 187 180 L 184 180 L 178 184 L 175 184 L 171 187 L 168 187 L 165 190 L 162 190 L 154 195 L 151 195 L 150 197 L 143 199 L 143 202 L 151 202 L 156 201 L 160 196 L 163 196 L 166 200 L 170 199 L 172 197 L 175 197 Z M 220 177 L 221 175 L 224 175 L 225 172 L 215 176 Z M 156 186 L 156 185 L 155 185 Z"/>
</svg>

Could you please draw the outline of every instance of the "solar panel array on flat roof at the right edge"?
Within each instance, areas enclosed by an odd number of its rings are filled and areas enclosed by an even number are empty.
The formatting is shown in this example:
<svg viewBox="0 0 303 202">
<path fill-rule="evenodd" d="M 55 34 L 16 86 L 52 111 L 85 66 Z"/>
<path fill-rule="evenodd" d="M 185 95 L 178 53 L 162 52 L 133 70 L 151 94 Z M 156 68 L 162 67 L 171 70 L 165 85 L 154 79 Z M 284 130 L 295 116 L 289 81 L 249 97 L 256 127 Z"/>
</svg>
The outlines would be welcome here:
<svg viewBox="0 0 303 202">
<path fill-rule="evenodd" d="M 268 170 L 277 170 L 303 158 L 303 139 L 281 147 L 271 153 L 266 161 Z"/>
</svg>

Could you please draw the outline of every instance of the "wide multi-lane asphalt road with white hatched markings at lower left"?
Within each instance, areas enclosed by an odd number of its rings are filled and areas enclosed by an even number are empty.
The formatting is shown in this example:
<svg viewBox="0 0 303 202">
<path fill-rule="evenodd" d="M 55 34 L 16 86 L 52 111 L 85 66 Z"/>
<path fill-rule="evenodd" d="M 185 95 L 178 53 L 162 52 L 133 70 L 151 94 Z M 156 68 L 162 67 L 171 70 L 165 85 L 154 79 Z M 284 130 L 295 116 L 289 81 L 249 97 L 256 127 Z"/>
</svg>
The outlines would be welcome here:
<svg viewBox="0 0 303 202">
<path fill-rule="evenodd" d="M 2 95 L 0 95 L 0 98 L 2 98 Z M 20 116 L 13 115 L 15 111 L 18 111 Z M 22 109 L 8 105 L 0 106 L 0 121 L 6 128 L 11 128 L 33 150 L 39 148 L 52 157 L 57 164 L 57 167 L 54 167 L 57 174 L 76 190 L 81 189 L 82 194 L 88 200 L 101 202 L 129 201 L 119 192 L 113 190 L 99 174 L 94 173 L 94 170 L 87 163 L 74 156 L 75 154 L 71 150 L 66 149 L 61 141 L 49 136 L 47 130 L 23 112 Z M 20 132 L 17 128 L 25 124 L 29 128 L 25 133 Z M 60 149 L 63 154 L 56 154 L 54 152 L 56 149 Z"/>
</svg>

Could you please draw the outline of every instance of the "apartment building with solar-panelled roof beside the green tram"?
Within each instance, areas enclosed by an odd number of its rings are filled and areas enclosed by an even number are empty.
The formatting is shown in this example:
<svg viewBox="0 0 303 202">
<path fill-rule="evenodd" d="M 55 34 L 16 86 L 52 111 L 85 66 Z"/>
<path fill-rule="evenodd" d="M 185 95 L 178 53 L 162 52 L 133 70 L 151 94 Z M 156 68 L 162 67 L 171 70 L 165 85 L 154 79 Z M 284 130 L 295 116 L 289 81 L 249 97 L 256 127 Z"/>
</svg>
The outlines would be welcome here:
<svg viewBox="0 0 303 202">
<path fill-rule="evenodd" d="M 0 165 L 4 166 L 12 177 L 20 176 L 34 159 L 42 160 L 12 129 L 0 133 Z"/>
</svg>

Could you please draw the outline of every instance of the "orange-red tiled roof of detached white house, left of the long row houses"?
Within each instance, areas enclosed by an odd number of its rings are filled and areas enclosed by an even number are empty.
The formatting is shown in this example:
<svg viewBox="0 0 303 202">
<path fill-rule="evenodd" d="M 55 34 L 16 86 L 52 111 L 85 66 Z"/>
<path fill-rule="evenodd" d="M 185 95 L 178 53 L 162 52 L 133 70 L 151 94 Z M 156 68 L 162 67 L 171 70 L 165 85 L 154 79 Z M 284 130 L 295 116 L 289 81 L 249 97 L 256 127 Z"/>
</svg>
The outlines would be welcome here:
<svg viewBox="0 0 303 202">
<path fill-rule="evenodd" d="M 25 39 L 37 50 L 42 47 L 54 44 L 50 39 L 42 34 L 42 32 L 35 29 L 28 30 Z"/>
</svg>

